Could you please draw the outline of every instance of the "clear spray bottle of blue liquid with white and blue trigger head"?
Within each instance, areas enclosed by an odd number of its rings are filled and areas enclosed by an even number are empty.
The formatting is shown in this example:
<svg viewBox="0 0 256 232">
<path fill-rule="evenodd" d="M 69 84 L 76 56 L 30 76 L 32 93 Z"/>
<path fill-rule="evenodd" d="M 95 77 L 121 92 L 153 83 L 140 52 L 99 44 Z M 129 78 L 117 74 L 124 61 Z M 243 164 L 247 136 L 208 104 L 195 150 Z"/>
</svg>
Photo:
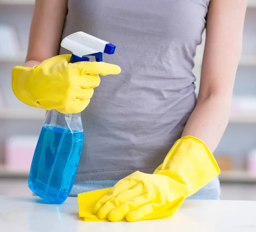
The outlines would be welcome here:
<svg viewBox="0 0 256 232">
<path fill-rule="evenodd" d="M 72 52 L 70 63 L 89 61 L 102 53 L 113 54 L 115 46 L 84 32 L 65 37 L 61 46 Z M 63 203 L 75 182 L 84 142 L 81 114 L 49 110 L 39 135 L 29 173 L 29 188 L 45 203 Z"/>
</svg>

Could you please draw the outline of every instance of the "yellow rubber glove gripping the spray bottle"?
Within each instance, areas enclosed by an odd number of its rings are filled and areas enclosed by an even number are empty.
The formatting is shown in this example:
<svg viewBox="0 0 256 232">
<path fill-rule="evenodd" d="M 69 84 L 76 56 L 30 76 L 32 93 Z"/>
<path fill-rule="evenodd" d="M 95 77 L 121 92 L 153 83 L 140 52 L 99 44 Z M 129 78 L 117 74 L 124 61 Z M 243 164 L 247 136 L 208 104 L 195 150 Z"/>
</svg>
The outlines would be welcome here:
<svg viewBox="0 0 256 232">
<path fill-rule="evenodd" d="M 104 62 L 69 63 L 70 57 L 58 55 L 33 68 L 15 66 L 12 90 L 16 97 L 29 106 L 79 113 L 89 104 L 93 88 L 99 86 L 99 74 L 121 72 L 119 66 Z"/>
</svg>

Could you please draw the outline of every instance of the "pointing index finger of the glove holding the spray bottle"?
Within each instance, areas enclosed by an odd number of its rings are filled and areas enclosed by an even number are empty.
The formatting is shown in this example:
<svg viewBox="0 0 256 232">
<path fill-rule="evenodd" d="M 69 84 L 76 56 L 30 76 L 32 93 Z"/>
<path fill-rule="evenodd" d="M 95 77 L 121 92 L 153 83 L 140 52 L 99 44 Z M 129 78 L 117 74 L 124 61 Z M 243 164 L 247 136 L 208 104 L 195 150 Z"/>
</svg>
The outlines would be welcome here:
<svg viewBox="0 0 256 232">
<path fill-rule="evenodd" d="M 109 74 L 115 75 L 121 72 L 119 66 L 105 63 L 105 62 L 78 62 L 73 65 L 76 65 L 79 69 L 82 70 L 83 74 L 100 74 L 102 76 L 106 76 Z"/>
</svg>

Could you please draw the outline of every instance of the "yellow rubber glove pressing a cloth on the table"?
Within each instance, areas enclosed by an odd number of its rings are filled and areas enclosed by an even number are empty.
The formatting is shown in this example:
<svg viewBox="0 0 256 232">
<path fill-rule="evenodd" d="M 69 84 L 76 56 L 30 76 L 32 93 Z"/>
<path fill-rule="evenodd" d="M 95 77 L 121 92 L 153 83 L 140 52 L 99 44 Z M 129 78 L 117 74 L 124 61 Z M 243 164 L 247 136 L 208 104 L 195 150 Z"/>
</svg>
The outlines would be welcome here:
<svg viewBox="0 0 256 232">
<path fill-rule="evenodd" d="M 92 213 L 109 221 L 163 218 L 219 173 L 218 164 L 201 140 L 182 137 L 154 174 L 134 172 L 120 180 L 96 203 Z"/>
</svg>

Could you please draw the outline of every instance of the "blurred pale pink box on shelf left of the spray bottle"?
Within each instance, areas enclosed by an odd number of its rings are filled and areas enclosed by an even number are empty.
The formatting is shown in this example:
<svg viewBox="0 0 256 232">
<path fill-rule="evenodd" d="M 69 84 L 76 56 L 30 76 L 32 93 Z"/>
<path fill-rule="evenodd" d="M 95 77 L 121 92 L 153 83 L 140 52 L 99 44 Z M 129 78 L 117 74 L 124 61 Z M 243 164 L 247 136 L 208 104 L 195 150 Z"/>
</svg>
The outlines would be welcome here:
<svg viewBox="0 0 256 232">
<path fill-rule="evenodd" d="M 14 136 L 5 142 L 5 165 L 8 170 L 29 172 L 37 136 Z"/>
</svg>

